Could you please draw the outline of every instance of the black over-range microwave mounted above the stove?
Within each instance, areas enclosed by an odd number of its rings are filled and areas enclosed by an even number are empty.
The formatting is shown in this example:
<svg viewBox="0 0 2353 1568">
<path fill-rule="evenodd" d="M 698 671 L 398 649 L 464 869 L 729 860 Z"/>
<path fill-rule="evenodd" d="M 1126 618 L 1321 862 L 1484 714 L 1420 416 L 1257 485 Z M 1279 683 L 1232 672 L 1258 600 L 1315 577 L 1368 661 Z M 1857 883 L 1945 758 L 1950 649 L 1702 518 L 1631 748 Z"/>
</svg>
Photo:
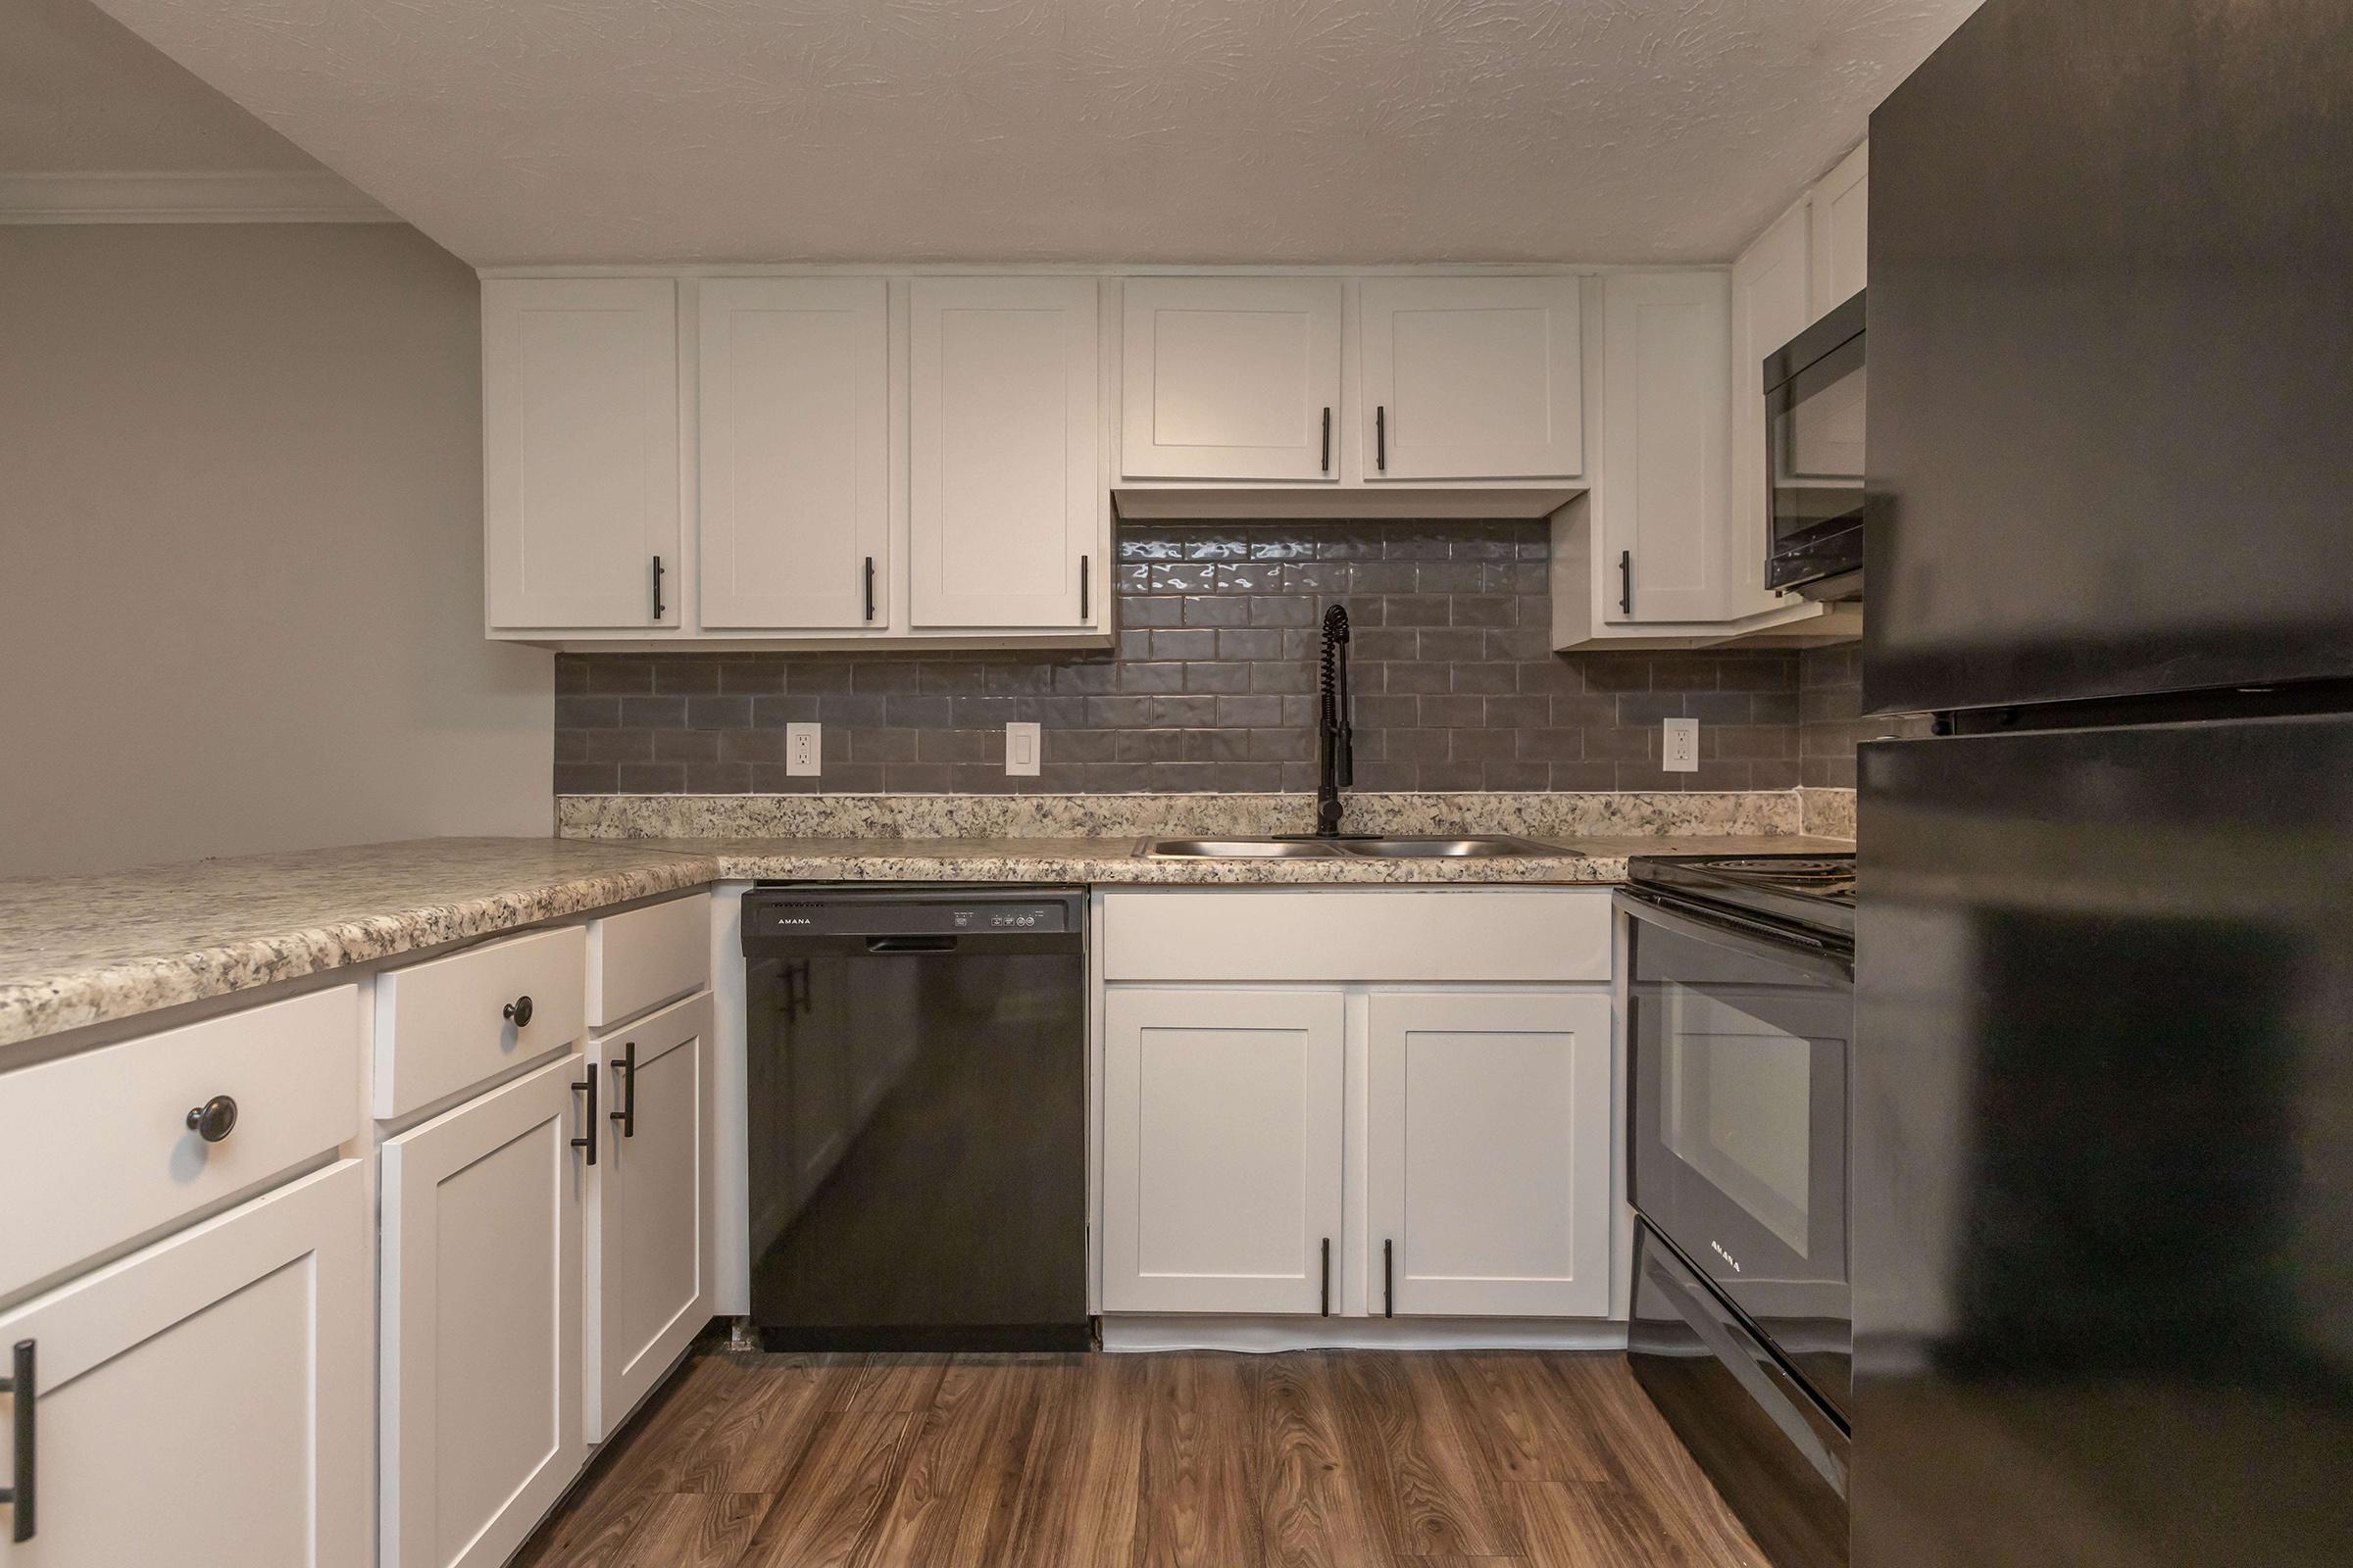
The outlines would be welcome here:
<svg viewBox="0 0 2353 1568">
<path fill-rule="evenodd" d="M 1765 360 L 1765 585 L 1864 592 L 1864 296 Z"/>
</svg>

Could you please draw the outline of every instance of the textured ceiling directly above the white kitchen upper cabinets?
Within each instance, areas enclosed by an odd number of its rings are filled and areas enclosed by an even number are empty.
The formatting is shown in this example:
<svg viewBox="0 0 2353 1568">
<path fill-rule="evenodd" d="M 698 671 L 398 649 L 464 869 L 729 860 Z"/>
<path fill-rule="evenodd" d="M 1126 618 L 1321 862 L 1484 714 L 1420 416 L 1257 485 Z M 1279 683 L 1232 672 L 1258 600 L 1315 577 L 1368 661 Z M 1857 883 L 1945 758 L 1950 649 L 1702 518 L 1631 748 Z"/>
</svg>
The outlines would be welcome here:
<svg viewBox="0 0 2353 1568">
<path fill-rule="evenodd" d="M 478 266 L 1722 261 L 1977 0 L 101 0 Z"/>
</svg>

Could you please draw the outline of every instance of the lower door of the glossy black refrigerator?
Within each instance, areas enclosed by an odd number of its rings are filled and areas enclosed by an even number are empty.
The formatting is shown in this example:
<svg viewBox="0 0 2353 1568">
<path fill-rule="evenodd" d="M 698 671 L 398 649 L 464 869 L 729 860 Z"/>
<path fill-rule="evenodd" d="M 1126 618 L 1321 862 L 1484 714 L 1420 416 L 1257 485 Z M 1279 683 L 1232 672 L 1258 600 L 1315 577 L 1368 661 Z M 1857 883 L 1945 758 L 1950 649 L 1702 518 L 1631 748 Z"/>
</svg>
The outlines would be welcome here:
<svg viewBox="0 0 2353 1568">
<path fill-rule="evenodd" d="M 1861 752 L 1857 1568 L 2353 1563 L 2353 715 Z"/>
</svg>

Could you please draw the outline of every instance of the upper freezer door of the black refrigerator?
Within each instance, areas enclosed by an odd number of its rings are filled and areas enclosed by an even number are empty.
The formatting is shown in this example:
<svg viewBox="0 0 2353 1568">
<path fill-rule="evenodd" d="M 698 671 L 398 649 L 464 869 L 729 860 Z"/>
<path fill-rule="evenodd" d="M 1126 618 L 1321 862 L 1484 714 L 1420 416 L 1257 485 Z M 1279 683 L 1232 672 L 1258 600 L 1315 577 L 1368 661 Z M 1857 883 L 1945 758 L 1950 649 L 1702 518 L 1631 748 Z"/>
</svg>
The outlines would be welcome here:
<svg viewBox="0 0 2353 1568">
<path fill-rule="evenodd" d="M 1871 118 L 1866 712 L 2353 677 L 2348 61 L 1991 0 Z"/>
</svg>

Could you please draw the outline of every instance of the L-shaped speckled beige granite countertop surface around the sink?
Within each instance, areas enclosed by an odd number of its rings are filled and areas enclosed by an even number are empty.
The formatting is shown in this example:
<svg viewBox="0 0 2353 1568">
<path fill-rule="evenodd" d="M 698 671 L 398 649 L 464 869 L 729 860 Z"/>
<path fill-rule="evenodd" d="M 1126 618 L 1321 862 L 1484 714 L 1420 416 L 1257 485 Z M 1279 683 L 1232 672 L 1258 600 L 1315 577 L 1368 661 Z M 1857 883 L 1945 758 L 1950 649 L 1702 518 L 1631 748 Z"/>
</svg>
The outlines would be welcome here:
<svg viewBox="0 0 2353 1568">
<path fill-rule="evenodd" d="M 1553 837 L 1499 860 L 1155 860 L 1141 837 L 416 839 L 0 879 L 0 1046 L 718 879 L 1609 884 L 1638 853 L 1840 851 L 1802 835 Z"/>
</svg>

